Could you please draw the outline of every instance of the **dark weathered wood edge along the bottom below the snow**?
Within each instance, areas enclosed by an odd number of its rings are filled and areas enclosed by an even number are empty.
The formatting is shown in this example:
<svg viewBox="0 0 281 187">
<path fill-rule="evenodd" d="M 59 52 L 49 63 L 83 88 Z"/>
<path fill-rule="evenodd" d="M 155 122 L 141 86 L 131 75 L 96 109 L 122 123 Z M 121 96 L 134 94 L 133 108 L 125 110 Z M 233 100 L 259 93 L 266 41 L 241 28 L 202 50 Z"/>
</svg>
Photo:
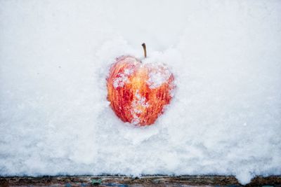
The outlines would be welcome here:
<svg viewBox="0 0 281 187">
<path fill-rule="evenodd" d="M 0 176 L 0 186 L 91 186 L 93 179 L 101 179 L 100 186 L 242 186 L 235 176 L 218 175 Z M 256 176 L 246 186 L 281 186 L 281 176 Z"/>
</svg>

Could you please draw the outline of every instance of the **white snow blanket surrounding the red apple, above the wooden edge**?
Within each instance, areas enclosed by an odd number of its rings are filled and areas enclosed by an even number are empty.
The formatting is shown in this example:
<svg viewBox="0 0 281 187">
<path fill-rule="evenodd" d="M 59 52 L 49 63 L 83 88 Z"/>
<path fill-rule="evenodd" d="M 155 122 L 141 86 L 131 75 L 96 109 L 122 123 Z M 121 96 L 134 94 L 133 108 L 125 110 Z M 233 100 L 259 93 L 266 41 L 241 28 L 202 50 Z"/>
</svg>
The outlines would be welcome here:
<svg viewBox="0 0 281 187">
<path fill-rule="evenodd" d="M 119 55 L 164 62 L 155 125 L 122 123 Z M 0 0 L 0 175 L 281 174 L 281 1 Z"/>
</svg>

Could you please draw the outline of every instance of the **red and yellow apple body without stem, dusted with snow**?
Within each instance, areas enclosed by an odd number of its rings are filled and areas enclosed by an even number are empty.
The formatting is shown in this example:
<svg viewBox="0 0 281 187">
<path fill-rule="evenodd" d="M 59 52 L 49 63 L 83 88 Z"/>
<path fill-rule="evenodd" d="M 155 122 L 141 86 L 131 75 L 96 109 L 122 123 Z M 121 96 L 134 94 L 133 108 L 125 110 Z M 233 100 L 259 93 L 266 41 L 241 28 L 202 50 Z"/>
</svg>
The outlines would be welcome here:
<svg viewBox="0 0 281 187">
<path fill-rule="evenodd" d="M 156 81 L 154 81 L 156 80 Z M 152 125 L 164 112 L 174 90 L 174 76 L 163 65 L 142 64 L 132 56 L 117 57 L 107 76 L 107 99 L 124 122 Z"/>
</svg>

